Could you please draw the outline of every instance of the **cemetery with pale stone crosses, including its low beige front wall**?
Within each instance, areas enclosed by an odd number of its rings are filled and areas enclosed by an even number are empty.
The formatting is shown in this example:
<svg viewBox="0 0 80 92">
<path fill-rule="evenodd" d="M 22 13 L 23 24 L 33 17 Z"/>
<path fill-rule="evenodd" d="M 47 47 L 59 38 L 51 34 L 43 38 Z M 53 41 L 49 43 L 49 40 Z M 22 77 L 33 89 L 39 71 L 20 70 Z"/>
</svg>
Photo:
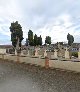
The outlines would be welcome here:
<svg viewBox="0 0 80 92">
<path fill-rule="evenodd" d="M 47 59 L 46 59 L 47 57 Z M 70 51 L 68 47 L 54 51 L 47 51 L 45 47 L 35 47 L 34 49 L 22 50 L 19 55 L 16 51 L 14 54 L 6 53 L 5 49 L 0 49 L 0 58 L 19 63 L 33 64 L 36 66 L 46 67 L 46 60 L 48 68 L 60 68 L 65 70 L 72 70 L 80 72 L 80 49 L 78 51 L 78 58 L 70 58 Z"/>
</svg>

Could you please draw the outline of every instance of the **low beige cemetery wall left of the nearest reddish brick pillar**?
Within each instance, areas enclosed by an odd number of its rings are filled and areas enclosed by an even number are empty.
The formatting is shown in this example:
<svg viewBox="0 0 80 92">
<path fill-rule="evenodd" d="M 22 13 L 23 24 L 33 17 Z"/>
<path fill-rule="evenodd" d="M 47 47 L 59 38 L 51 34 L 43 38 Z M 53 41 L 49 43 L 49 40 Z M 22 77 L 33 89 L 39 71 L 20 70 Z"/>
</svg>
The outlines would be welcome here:
<svg viewBox="0 0 80 92">
<path fill-rule="evenodd" d="M 0 55 L 0 58 L 3 58 L 2 55 Z M 13 60 L 14 62 L 17 62 L 17 56 L 12 56 L 12 55 L 4 55 L 3 59 L 8 59 L 8 60 Z M 35 65 L 40 65 L 42 67 L 45 66 L 45 59 L 40 59 L 36 57 L 19 57 L 19 62 L 20 63 L 30 63 L 30 64 L 35 64 Z"/>
</svg>

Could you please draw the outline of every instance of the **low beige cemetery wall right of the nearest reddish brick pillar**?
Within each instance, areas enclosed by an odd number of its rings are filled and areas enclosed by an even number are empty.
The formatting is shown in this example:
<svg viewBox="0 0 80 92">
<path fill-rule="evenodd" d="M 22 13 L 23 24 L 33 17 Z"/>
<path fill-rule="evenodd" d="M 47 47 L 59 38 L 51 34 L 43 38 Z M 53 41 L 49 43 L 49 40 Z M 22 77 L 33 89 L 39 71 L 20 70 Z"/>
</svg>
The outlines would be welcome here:
<svg viewBox="0 0 80 92">
<path fill-rule="evenodd" d="M 80 62 L 50 60 L 49 67 L 80 72 Z"/>
</svg>

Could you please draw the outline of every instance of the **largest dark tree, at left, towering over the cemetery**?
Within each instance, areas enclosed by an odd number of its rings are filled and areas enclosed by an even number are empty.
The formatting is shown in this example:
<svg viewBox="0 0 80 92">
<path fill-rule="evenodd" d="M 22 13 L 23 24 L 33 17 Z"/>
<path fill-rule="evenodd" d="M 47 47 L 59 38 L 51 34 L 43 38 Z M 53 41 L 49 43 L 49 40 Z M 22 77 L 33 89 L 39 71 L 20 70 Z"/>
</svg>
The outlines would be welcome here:
<svg viewBox="0 0 80 92">
<path fill-rule="evenodd" d="M 11 23 L 10 32 L 11 32 L 12 45 L 18 52 L 21 49 L 21 42 L 23 40 L 22 27 L 20 24 L 18 24 L 18 21 Z"/>
</svg>

